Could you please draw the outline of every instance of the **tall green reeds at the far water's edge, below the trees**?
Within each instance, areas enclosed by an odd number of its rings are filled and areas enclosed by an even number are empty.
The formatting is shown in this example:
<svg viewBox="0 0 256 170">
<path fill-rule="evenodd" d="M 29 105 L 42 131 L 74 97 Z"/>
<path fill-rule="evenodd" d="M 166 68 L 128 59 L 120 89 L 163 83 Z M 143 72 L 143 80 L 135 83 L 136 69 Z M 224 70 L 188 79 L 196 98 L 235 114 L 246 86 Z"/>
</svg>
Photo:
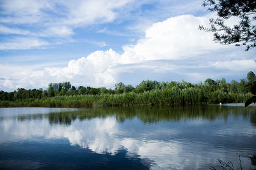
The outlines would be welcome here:
<svg viewBox="0 0 256 170">
<path fill-rule="evenodd" d="M 0 101 L 1 107 L 67 107 L 122 106 L 122 105 L 170 105 L 200 103 L 243 103 L 252 97 L 251 93 L 227 92 L 225 90 L 204 90 L 188 87 L 155 89 L 147 92 L 124 92 L 122 94 L 88 94 L 74 96 L 43 97 L 41 99 L 19 99 Z"/>
</svg>

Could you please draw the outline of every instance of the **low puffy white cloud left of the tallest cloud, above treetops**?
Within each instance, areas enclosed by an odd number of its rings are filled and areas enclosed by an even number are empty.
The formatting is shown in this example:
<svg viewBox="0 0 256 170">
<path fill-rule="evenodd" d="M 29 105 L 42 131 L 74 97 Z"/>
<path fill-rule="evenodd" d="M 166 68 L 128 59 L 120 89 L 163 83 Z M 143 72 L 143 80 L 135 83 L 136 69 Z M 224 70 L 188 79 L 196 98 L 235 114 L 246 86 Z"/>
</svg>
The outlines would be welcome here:
<svg viewBox="0 0 256 170">
<path fill-rule="evenodd" d="M 77 60 L 70 60 L 67 67 L 45 67 L 35 71 L 34 67 L 4 66 L 0 68 L 1 88 L 14 90 L 46 87 L 50 82 L 71 81 L 73 85 L 111 86 L 116 81 L 115 71 L 111 69 L 120 64 L 120 55 L 109 49 L 96 51 Z"/>
</svg>

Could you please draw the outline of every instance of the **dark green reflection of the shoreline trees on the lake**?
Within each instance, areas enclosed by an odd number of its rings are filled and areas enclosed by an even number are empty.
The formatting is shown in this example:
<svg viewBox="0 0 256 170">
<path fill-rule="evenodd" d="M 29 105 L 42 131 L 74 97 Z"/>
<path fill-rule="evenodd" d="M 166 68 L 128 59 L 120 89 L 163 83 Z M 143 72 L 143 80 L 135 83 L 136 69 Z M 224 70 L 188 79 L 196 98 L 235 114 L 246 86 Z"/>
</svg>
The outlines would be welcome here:
<svg viewBox="0 0 256 170">
<path fill-rule="evenodd" d="M 210 122 L 216 119 L 223 119 L 225 122 L 229 116 L 234 118 L 243 115 L 243 118 L 250 117 L 251 124 L 256 127 L 255 107 L 237 107 L 237 106 L 216 106 L 216 105 L 195 105 L 195 106 L 144 106 L 144 107 L 93 107 L 77 109 L 75 111 L 65 111 L 49 114 L 19 115 L 20 121 L 42 120 L 48 118 L 51 125 L 71 125 L 72 121 L 79 119 L 90 120 L 92 118 L 106 118 L 113 116 L 117 122 L 124 122 L 127 119 L 139 118 L 145 124 L 168 122 L 186 122 L 186 120 L 202 119 Z"/>
</svg>

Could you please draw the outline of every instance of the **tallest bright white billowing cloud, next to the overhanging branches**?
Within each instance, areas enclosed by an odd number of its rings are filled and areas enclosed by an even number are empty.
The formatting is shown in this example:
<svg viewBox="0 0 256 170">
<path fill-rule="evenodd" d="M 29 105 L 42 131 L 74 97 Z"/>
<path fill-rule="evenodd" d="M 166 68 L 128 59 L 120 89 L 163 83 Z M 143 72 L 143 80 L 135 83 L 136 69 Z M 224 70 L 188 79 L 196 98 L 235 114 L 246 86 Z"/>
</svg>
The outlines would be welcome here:
<svg viewBox="0 0 256 170">
<path fill-rule="evenodd" d="M 209 50 L 224 48 L 212 42 L 211 34 L 198 30 L 207 18 L 181 15 L 157 22 L 136 45 L 124 46 L 125 63 L 143 60 L 187 59 Z"/>
</svg>

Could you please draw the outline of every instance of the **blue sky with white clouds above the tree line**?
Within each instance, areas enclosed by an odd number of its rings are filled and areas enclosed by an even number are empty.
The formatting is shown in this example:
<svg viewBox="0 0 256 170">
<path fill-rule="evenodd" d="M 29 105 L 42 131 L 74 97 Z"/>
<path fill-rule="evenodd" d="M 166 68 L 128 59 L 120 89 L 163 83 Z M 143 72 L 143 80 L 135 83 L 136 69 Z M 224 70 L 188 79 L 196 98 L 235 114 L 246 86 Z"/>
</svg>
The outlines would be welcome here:
<svg viewBox="0 0 256 170">
<path fill-rule="evenodd" d="M 255 73 L 255 48 L 220 45 L 198 29 L 211 17 L 202 0 L 0 0 L 0 90 Z"/>
</svg>

